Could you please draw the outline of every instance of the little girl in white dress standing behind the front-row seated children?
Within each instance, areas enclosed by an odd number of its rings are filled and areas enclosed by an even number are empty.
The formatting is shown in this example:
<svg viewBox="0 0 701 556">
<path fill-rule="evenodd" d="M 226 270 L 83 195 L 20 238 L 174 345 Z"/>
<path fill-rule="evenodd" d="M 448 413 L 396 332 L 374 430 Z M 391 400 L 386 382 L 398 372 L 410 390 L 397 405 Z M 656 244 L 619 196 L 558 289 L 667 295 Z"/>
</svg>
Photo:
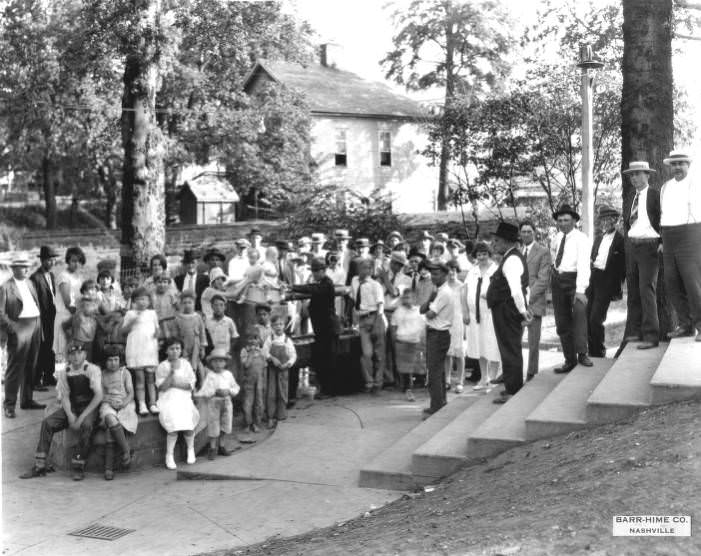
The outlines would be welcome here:
<svg viewBox="0 0 701 556">
<path fill-rule="evenodd" d="M 158 365 L 158 315 L 151 305 L 151 295 L 146 288 L 137 288 L 131 294 L 132 309 L 124 315 L 122 332 L 127 334 L 126 362 L 134 372 L 136 401 L 139 414 L 158 413 L 154 371 Z M 146 405 L 148 390 L 149 406 Z"/>
</svg>

